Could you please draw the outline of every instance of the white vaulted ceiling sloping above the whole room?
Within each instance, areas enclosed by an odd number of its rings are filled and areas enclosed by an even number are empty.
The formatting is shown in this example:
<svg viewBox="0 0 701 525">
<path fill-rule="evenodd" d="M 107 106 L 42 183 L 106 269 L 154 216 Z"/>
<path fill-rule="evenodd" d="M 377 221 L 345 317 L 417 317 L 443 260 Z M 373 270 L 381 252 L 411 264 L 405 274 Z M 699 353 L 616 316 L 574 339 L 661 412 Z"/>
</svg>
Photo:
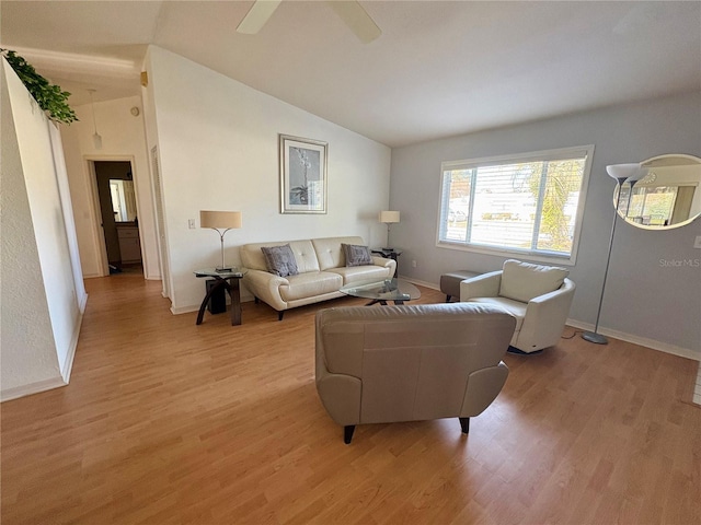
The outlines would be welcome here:
<svg viewBox="0 0 701 525">
<path fill-rule="evenodd" d="M 701 89 L 701 2 L 372 1 L 361 44 L 319 1 L 8 1 L 0 42 L 70 102 L 139 94 L 158 45 L 390 147 Z"/>
</svg>

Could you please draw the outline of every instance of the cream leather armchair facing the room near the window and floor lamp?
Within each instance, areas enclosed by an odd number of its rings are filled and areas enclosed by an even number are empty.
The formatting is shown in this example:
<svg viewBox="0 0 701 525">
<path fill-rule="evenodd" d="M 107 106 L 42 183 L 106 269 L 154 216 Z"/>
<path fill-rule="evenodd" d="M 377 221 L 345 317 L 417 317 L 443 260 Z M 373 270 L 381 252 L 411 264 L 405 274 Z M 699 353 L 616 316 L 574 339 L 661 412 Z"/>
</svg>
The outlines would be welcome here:
<svg viewBox="0 0 701 525">
<path fill-rule="evenodd" d="M 516 317 L 509 351 L 532 353 L 560 341 L 575 284 L 565 268 L 515 259 L 460 282 L 460 301 L 499 306 Z"/>
</svg>

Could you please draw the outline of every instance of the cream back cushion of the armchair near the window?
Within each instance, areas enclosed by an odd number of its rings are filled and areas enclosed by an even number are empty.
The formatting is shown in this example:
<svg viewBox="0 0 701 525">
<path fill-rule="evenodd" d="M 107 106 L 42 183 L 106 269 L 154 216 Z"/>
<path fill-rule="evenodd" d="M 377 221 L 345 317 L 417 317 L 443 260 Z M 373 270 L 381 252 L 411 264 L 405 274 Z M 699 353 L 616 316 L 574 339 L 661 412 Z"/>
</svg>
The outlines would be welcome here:
<svg viewBox="0 0 701 525">
<path fill-rule="evenodd" d="M 508 259 L 504 261 L 499 295 L 527 303 L 533 298 L 558 290 L 568 275 L 570 270 L 565 268 Z"/>
</svg>

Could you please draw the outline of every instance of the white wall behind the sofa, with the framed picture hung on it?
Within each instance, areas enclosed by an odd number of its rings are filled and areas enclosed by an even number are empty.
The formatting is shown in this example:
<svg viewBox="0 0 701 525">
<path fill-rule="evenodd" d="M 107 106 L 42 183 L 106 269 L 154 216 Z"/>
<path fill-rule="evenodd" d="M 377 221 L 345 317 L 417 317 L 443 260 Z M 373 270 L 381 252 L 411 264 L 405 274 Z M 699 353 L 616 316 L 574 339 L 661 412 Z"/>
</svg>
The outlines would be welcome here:
<svg viewBox="0 0 701 525">
<path fill-rule="evenodd" d="M 146 67 L 173 312 L 199 306 L 205 285 L 193 271 L 220 260 L 217 233 L 187 228 L 188 219 L 198 225 L 203 209 L 243 212 L 243 228 L 226 236 L 227 261 L 234 264 L 237 246 L 250 242 L 360 235 L 384 243 L 377 213 L 389 200 L 389 148 L 164 49 L 150 47 Z M 326 214 L 280 214 L 278 133 L 329 142 Z"/>
</svg>

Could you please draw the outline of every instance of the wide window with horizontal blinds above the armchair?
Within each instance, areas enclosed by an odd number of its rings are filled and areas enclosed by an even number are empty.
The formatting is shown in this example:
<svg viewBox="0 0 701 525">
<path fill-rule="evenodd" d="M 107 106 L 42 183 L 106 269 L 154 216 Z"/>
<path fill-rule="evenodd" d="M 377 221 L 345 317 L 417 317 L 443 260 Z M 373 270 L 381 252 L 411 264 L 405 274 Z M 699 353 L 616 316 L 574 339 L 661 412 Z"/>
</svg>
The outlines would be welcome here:
<svg viewBox="0 0 701 525">
<path fill-rule="evenodd" d="M 593 153 L 444 162 L 438 245 L 574 262 Z"/>
</svg>

